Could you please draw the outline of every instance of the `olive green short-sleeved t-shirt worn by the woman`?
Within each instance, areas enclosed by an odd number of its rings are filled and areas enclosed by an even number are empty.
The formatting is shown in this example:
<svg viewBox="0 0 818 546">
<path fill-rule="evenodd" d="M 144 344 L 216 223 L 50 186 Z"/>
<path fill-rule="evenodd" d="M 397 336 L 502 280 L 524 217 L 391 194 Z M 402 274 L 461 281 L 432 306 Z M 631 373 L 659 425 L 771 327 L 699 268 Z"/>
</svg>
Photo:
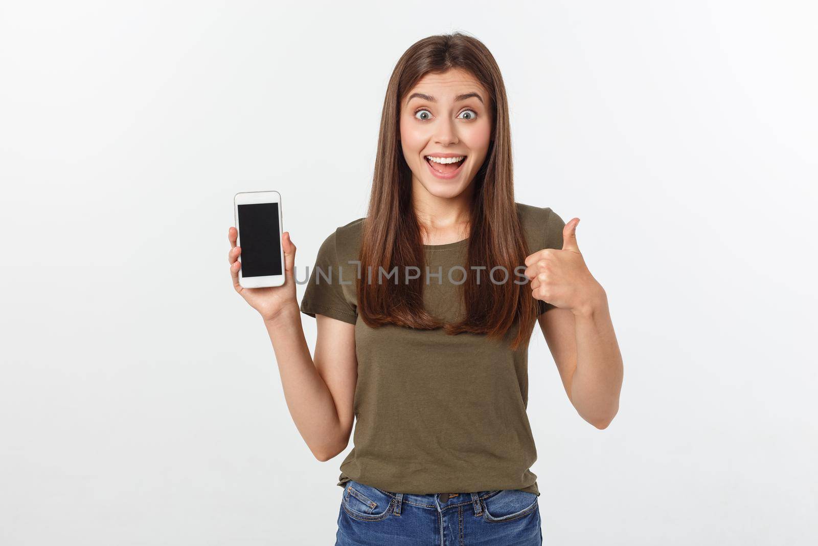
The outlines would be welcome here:
<svg viewBox="0 0 818 546">
<path fill-rule="evenodd" d="M 517 214 L 529 254 L 562 248 L 565 223 L 550 208 L 518 203 Z M 526 413 L 528 342 L 510 349 L 518 323 L 501 341 L 471 333 L 452 336 L 442 328 L 367 326 L 357 315 L 355 283 L 363 220 L 326 238 L 301 301 L 304 314 L 355 325 L 356 424 L 338 485 L 353 479 L 395 493 L 524 490 L 539 495 L 537 476 L 529 470 L 537 449 Z M 488 270 L 466 264 L 468 243 L 424 246 L 425 307 L 446 322 L 464 310 L 464 271 L 491 282 Z M 519 276 L 509 272 L 507 282 L 528 282 L 522 276 L 525 264 L 520 265 Z M 501 282 L 503 277 L 498 270 L 493 278 Z M 540 313 L 554 307 L 538 305 Z"/>
</svg>

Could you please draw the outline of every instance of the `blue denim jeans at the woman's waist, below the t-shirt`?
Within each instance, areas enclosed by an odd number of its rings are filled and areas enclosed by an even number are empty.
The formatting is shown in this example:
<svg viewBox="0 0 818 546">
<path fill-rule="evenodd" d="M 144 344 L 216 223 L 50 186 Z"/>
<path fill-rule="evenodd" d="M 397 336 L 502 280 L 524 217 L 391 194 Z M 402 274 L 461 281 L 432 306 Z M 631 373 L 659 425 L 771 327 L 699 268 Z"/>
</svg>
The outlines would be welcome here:
<svg viewBox="0 0 818 546">
<path fill-rule="evenodd" d="M 393 493 L 346 482 L 335 546 L 541 546 L 537 495 Z"/>
</svg>

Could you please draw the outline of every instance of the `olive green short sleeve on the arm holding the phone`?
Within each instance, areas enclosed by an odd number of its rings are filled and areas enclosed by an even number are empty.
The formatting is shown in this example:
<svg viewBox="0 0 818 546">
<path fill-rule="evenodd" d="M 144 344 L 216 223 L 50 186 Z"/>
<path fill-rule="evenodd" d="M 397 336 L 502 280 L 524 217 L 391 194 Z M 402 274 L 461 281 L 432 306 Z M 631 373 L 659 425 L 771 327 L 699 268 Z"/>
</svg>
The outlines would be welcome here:
<svg viewBox="0 0 818 546">
<path fill-rule="evenodd" d="M 336 248 L 336 233 L 321 243 L 315 266 L 310 272 L 307 287 L 301 300 L 301 312 L 315 318 L 316 314 L 337 318 L 344 323 L 354 324 L 357 309 L 344 294 L 344 287 L 354 291 L 354 264 L 340 264 Z M 347 283 L 346 286 L 341 282 Z"/>
</svg>

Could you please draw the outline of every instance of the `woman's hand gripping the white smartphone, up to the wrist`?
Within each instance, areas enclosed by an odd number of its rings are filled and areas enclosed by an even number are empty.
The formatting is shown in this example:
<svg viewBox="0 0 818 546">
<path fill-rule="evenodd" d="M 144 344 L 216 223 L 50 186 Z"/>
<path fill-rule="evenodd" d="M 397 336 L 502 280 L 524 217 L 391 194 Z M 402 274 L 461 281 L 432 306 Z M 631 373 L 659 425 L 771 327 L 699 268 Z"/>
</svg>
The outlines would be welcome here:
<svg viewBox="0 0 818 546">
<path fill-rule="evenodd" d="M 290 241 L 290 232 L 281 235 L 281 245 L 284 249 L 284 284 L 281 287 L 245 288 L 239 284 L 239 269 L 241 262 L 239 255 L 241 247 L 236 246 L 238 230 L 232 227 L 227 232 L 227 240 L 231 249 L 227 253 L 227 262 L 230 264 L 230 274 L 233 278 L 233 288 L 245 299 L 249 305 L 261 314 L 265 322 L 280 318 L 283 311 L 294 310 L 298 316 L 299 303 L 295 296 L 295 245 Z"/>
</svg>

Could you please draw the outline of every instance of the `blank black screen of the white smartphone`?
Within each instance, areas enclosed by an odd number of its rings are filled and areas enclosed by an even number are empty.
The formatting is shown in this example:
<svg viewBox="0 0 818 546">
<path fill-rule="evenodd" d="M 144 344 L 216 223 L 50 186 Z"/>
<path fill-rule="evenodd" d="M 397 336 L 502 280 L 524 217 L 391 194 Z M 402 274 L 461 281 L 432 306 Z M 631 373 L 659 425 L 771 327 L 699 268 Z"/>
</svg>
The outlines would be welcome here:
<svg viewBox="0 0 818 546">
<path fill-rule="evenodd" d="M 241 276 L 281 275 L 281 227 L 278 203 L 239 205 Z"/>
</svg>

